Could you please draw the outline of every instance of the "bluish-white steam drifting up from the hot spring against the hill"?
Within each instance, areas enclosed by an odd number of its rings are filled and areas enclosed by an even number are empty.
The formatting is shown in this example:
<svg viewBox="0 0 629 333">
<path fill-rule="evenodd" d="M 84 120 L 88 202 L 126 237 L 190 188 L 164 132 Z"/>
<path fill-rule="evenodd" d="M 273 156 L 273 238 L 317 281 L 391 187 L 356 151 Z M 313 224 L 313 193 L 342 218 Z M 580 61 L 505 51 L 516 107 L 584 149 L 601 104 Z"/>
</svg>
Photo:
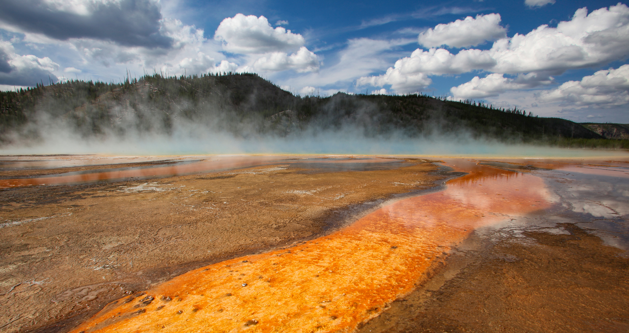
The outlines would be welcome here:
<svg viewBox="0 0 629 333">
<path fill-rule="evenodd" d="M 246 100 L 255 101 L 255 96 Z M 108 110 L 104 120 L 102 114 L 91 113 L 89 105 L 82 106 L 81 112 L 77 111 L 81 108 L 67 112 L 67 107 L 47 104 L 30 114 L 24 126 L 4 133 L 0 154 L 626 155 L 624 151 L 508 145 L 478 138 L 465 128 L 451 128 L 451 123 L 438 118 L 424 121 L 418 133 L 409 133 L 383 121 L 382 113 L 372 112 L 378 107 L 375 103 L 352 101 L 353 106 L 348 106 L 342 98 L 332 98 L 308 122 L 299 121 L 294 111 L 264 117 L 216 99 L 194 103 L 177 99 L 167 104 L 168 109 L 146 99 L 100 101 L 105 105 L 96 107 Z M 257 107 L 252 103 L 249 110 Z"/>
</svg>

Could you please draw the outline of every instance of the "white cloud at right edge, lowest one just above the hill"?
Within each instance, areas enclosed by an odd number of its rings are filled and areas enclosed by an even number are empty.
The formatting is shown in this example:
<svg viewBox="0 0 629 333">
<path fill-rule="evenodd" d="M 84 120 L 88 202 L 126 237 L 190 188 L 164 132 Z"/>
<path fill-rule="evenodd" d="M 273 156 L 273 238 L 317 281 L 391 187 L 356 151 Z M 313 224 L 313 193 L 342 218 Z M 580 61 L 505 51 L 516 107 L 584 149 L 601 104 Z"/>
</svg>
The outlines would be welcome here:
<svg viewBox="0 0 629 333">
<path fill-rule="evenodd" d="M 541 102 L 562 106 L 613 107 L 629 104 L 629 65 L 599 70 L 581 81 L 568 81 L 537 95 Z"/>
</svg>

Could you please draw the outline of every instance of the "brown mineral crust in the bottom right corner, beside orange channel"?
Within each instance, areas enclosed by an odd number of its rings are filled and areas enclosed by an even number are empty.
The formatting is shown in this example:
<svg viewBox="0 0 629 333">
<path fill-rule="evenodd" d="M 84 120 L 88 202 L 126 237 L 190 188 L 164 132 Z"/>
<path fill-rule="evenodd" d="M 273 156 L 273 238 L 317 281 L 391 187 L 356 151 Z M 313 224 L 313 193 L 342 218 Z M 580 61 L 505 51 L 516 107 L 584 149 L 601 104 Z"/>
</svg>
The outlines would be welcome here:
<svg viewBox="0 0 629 333">
<path fill-rule="evenodd" d="M 359 333 L 628 332 L 629 258 L 574 224 L 560 227 L 567 234 L 470 238 Z"/>
</svg>

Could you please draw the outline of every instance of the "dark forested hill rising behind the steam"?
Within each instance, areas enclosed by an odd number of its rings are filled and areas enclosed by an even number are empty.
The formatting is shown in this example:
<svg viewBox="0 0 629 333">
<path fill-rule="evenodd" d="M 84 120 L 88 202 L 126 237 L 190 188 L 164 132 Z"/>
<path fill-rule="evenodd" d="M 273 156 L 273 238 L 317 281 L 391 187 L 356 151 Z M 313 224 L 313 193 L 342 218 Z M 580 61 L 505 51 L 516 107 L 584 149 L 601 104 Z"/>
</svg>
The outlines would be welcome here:
<svg viewBox="0 0 629 333">
<path fill-rule="evenodd" d="M 591 123 L 415 94 L 338 93 L 302 98 L 255 74 L 168 78 L 156 74 L 121 84 L 70 80 L 0 92 L 1 140 L 36 136 L 33 128 L 51 123 L 64 124 L 65 130 L 85 137 L 131 132 L 167 135 L 177 124 L 194 124 L 243 136 L 353 128 L 365 136 L 445 135 L 506 143 L 629 148 L 626 138 L 607 139 L 610 131 L 598 131 Z"/>
</svg>

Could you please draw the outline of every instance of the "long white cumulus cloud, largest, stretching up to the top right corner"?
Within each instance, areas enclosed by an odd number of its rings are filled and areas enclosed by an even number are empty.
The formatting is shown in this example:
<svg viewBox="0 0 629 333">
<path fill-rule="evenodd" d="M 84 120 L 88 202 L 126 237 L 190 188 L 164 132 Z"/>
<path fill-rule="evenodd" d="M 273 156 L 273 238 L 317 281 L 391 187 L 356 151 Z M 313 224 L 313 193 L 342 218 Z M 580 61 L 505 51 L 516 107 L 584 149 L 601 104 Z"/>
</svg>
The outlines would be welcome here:
<svg viewBox="0 0 629 333">
<path fill-rule="evenodd" d="M 427 75 L 462 74 L 472 70 L 557 75 L 628 55 L 629 8 L 618 4 L 590 14 L 586 8 L 578 9 L 570 21 L 560 22 L 557 28 L 542 25 L 526 35 L 516 34 L 495 41 L 489 50 L 467 49 L 454 54 L 443 48 L 417 49 L 411 57 L 398 60 L 386 74 L 362 77 L 357 84 L 390 84 L 392 89 L 401 89 L 399 92 L 409 92 L 429 82 Z"/>
</svg>

